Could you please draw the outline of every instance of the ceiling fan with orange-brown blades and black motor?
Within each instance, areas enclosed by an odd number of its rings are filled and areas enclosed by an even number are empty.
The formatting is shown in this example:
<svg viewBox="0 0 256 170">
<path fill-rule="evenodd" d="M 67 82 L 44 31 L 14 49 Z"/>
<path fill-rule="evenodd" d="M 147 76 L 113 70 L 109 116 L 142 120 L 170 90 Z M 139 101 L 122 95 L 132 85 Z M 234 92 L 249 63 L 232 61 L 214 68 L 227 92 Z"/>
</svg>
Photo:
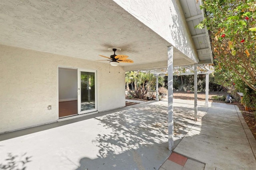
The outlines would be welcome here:
<svg viewBox="0 0 256 170">
<path fill-rule="evenodd" d="M 113 55 L 110 55 L 110 57 L 106 57 L 104 55 L 99 55 L 100 57 L 105 57 L 109 60 L 97 60 L 97 61 L 110 61 L 109 63 L 112 65 L 112 66 L 118 66 L 118 63 L 133 63 L 132 60 L 130 59 L 127 59 L 128 56 L 127 55 L 116 55 L 116 50 L 118 48 L 109 48 L 109 49 L 112 49 L 114 51 L 114 54 Z M 121 49 L 118 49 L 118 51 L 120 51 Z"/>
</svg>

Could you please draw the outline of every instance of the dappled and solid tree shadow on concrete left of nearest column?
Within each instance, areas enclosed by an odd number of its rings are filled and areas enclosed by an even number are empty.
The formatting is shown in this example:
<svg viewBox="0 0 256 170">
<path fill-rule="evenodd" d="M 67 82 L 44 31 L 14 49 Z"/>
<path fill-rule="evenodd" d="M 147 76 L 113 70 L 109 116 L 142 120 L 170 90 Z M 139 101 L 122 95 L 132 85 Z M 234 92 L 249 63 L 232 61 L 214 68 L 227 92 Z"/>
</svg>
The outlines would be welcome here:
<svg viewBox="0 0 256 170">
<path fill-rule="evenodd" d="M 167 107 L 154 103 L 96 117 L 112 133 L 97 135 L 93 143 L 99 149 L 98 158 L 81 158 L 77 170 L 160 168 L 170 154 L 168 117 Z"/>
</svg>

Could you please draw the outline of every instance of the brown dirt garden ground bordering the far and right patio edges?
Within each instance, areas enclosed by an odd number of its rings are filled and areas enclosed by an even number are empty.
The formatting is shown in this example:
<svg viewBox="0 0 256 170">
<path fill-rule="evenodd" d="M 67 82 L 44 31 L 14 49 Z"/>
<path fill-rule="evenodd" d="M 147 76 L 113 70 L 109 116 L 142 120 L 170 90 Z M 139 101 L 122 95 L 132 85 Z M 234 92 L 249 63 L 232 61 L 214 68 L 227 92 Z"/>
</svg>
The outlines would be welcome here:
<svg viewBox="0 0 256 170">
<path fill-rule="evenodd" d="M 228 95 L 228 93 L 226 92 L 209 92 L 209 102 L 222 102 L 223 101 L 219 101 L 219 100 L 212 100 L 212 96 L 222 96 L 222 95 Z M 173 98 L 175 99 L 183 99 L 183 100 L 194 100 L 194 92 L 174 92 L 173 93 Z M 128 99 L 128 98 L 126 98 Z M 197 94 L 197 99 L 199 101 L 205 101 L 205 92 L 198 92 Z M 143 100 L 143 101 L 148 101 L 148 100 L 144 100 L 144 99 L 132 99 L 132 100 Z M 138 103 L 134 103 L 134 102 L 126 102 L 126 106 L 130 106 L 130 105 L 134 105 L 134 104 L 138 104 Z M 256 139 L 256 127 L 255 125 L 255 119 L 254 119 L 254 114 L 253 111 L 245 111 L 244 106 L 242 104 L 240 104 L 239 101 L 235 101 L 231 104 L 235 104 L 239 107 L 244 120 L 246 121 L 248 127 L 250 128 L 250 130 L 252 131 L 252 135 L 254 136 L 254 138 Z"/>
</svg>

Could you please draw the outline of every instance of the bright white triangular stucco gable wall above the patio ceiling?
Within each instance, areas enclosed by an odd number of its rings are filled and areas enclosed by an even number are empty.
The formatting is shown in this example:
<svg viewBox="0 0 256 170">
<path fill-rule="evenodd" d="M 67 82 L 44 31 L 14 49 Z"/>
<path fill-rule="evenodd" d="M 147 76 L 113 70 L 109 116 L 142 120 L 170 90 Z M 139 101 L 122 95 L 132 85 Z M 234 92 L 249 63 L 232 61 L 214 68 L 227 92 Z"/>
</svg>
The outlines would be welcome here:
<svg viewBox="0 0 256 170">
<path fill-rule="evenodd" d="M 170 42 L 190 60 L 198 61 L 196 48 L 179 0 L 114 0 L 114 2 Z"/>
</svg>

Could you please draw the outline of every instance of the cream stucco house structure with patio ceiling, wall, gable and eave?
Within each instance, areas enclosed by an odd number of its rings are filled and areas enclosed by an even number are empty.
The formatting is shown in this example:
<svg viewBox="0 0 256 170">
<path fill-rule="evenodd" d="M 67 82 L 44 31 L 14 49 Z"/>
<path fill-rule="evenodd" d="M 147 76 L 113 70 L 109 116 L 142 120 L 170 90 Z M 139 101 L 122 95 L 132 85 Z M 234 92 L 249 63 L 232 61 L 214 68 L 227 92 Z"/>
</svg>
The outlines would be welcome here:
<svg viewBox="0 0 256 170">
<path fill-rule="evenodd" d="M 77 101 L 78 107 L 67 115 L 68 119 L 124 107 L 124 76 L 128 70 L 168 67 L 171 106 L 173 67 L 212 63 L 207 29 L 194 27 L 204 18 L 200 3 L 200 0 L 1 3 L 0 133 L 66 119 L 66 114 L 60 113 L 60 102 Z M 127 55 L 134 63 L 110 66 L 109 61 L 101 61 L 104 58 L 99 55 L 109 58 L 113 55 L 109 49 L 114 47 L 121 49 L 116 54 Z M 64 77 L 71 72 L 74 77 Z M 90 77 L 90 82 L 86 79 L 86 88 L 94 97 L 93 108 L 83 107 L 89 105 L 90 97 L 82 101 L 89 96 L 82 93 L 80 85 L 85 80 L 82 74 Z M 62 90 L 66 82 L 72 88 Z M 14 101 L 17 101 L 15 106 Z M 172 108 L 168 110 L 172 115 Z M 172 150 L 171 129 L 169 133 Z"/>
</svg>

